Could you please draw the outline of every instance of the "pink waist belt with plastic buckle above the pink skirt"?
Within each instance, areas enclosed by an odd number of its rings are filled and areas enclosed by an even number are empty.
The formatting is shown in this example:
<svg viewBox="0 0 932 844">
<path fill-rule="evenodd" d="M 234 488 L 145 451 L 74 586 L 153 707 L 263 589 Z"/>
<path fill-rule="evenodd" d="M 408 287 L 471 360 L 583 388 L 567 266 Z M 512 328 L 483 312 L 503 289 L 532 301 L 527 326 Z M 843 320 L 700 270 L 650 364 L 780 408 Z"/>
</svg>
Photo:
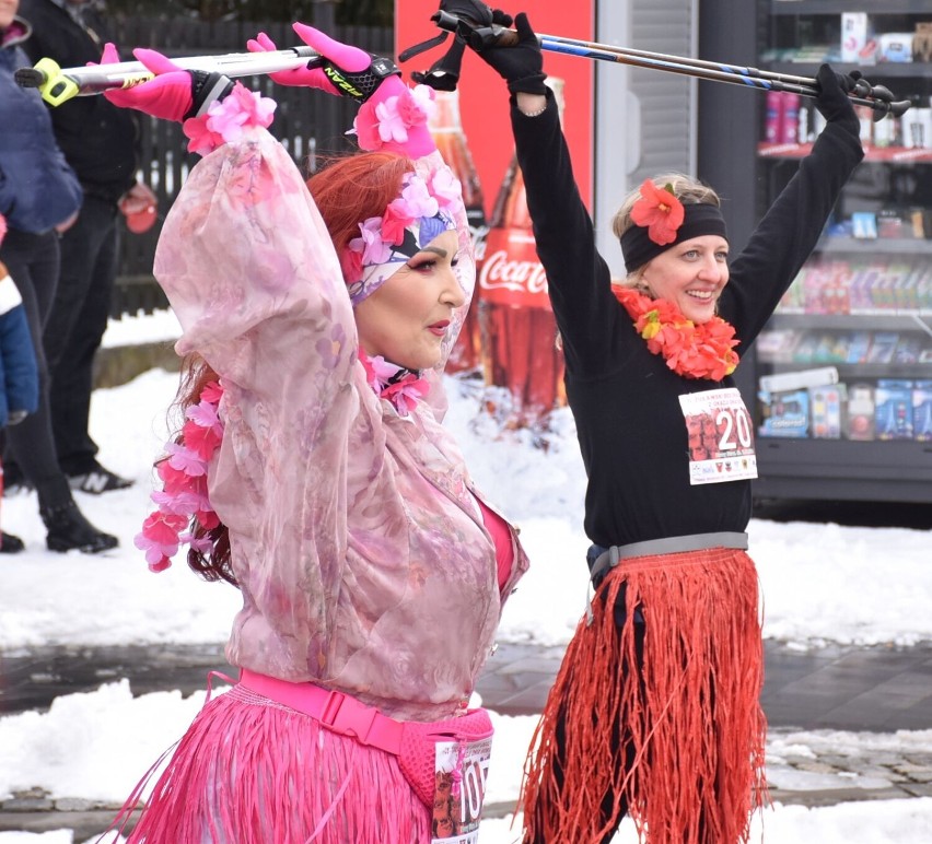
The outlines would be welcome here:
<svg viewBox="0 0 932 844">
<path fill-rule="evenodd" d="M 240 684 L 277 701 L 289 708 L 310 715 L 327 729 L 341 736 L 351 736 L 394 755 L 401 749 L 404 724 L 383 715 L 374 706 L 366 706 L 356 698 L 314 683 L 292 683 L 246 668 L 240 671 Z"/>
</svg>

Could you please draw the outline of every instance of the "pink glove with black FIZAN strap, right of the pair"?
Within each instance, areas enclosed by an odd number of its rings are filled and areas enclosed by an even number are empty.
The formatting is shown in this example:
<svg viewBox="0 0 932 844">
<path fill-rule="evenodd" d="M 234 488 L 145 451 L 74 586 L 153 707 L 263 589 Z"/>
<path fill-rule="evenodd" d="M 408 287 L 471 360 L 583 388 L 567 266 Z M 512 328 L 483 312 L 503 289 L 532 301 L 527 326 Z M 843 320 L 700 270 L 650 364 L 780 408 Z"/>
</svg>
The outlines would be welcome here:
<svg viewBox="0 0 932 844">
<path fill-rule="evenodd" d="M 280 85 L 316 87 L 328 94 L 347 96 L 359 103 L 365 103 L 386 78 L 400 75 L 400 71 L 391 59 L 373 56 L 359 47 L 341 44 L 329 36 L 303 23 L 292 24 L 292 28 L 308 47 L 321 54 L 321 59 L 312 59 L 307 67 L 269 73 Z M 275 42 L 264 32 L 246 42 L 251 52 L 268 52 L 277 49 Z"/>
</svg>

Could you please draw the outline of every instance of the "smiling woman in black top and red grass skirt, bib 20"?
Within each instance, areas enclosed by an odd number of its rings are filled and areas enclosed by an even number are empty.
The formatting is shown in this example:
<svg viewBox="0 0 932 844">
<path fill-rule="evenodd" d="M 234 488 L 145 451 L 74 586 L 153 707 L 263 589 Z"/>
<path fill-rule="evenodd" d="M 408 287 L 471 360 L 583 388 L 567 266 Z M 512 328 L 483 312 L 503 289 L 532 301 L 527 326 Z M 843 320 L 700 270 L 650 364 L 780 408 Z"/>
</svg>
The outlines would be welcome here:
<svg viewBox="0 0 932 844">
<path fill-rule="evenodd" d="M 609 841 L 625 813 L 663 844 L 747 841 L 766 800 L 762 647 L 745 553 L 750 414 L 732 372 L 814 248 L 863 156 L 828 66 L 827 126 L 747 246 L 719 199 L 675 174 L 615 218 L 613 289 L 573 180 L 537 39 L 480 56 L 508 82 L 537 251 L 566 354 L 589 478 L 596 599 L 569 646 L 528 760 L 524 841 Z"/>
</svg>

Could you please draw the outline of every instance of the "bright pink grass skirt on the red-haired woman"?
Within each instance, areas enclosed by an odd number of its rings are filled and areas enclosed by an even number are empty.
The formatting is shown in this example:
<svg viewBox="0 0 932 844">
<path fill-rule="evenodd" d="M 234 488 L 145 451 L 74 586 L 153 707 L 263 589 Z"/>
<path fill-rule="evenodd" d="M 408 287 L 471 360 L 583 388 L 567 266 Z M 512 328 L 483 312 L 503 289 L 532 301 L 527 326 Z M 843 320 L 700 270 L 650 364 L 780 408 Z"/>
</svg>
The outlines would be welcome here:
<svg viewBox="0 0 932 844">
<path fill-rule="evenodd" d="M 127 824 L 160 762 L 115 824 Z M 429 840 L 430 814 L 395 757 L 238 685 L 195 718 L 128 837 L 147 844 Z"/>
</svg>

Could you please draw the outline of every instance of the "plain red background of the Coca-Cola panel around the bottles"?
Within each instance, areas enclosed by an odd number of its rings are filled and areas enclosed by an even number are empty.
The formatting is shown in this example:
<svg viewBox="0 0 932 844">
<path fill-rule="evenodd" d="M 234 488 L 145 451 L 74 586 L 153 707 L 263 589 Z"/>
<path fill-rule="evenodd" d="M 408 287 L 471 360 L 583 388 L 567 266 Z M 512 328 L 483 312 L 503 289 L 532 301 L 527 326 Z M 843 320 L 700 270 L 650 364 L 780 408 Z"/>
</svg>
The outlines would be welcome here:
<svg viewBox="0 0 932 844">
<path fill-rule="evenodd" d="M 439 7 L 439 0 L 395 0 L 396 57 L 401 50 L 440 33 L 430 20 Z M 595 39 L 595 0 L 574 0 L 572 3 L 522 0 L 521 3 L 506 5 L 505 11 L 512 14 L 526 12 L 538 33 Z M 412 70 L 427 70 L 443 55 L 450 43 L 447 38 L 440 47 L 405 62 L 401 66 L 405 79 L 410 81 Z M 564 81 L 567 110 L 563 131 L 570 146 L 580 195 L 592 208 L 593 62 L 578 57 L 545 52 L 544 70 Z M 486 214 L 491 216 L 492 203 L 514 151 L 509 122 L 508 90 L 496 72 L 469 50 L 463 58 L 458 90 L 463 129 L 482 185 Z"/>
</svg>

